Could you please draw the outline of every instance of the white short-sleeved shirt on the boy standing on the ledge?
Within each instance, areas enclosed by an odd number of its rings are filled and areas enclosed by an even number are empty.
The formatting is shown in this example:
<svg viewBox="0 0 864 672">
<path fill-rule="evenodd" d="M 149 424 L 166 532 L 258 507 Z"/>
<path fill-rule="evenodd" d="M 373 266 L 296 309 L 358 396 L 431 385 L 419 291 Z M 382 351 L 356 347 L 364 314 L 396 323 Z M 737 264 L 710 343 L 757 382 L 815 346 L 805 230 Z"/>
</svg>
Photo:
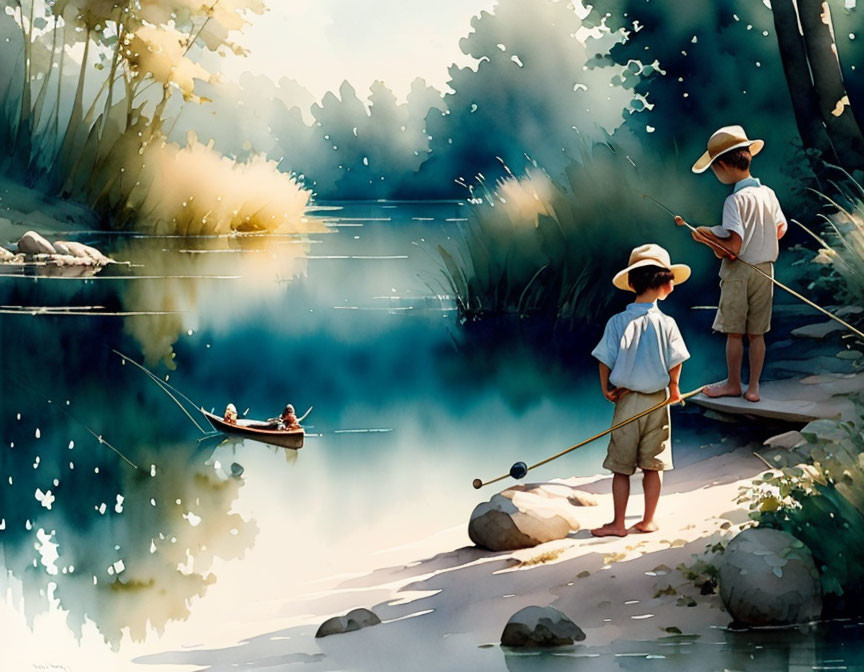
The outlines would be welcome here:
<svg viewBox="0 0 864 672">
<path fill-rule="evenodd" d="M 774 190 L 748 177 L 735 184 L 735 190 L 723 203 L 723 224 L 711 230 L 720 238 L 728 238 L 731 231 L 737 233 L 741 236 L 738 257 L 761 264 L 777 261 L 778 225 L 780 233 L 785 233 L 786 216 Z"/>
</svg>

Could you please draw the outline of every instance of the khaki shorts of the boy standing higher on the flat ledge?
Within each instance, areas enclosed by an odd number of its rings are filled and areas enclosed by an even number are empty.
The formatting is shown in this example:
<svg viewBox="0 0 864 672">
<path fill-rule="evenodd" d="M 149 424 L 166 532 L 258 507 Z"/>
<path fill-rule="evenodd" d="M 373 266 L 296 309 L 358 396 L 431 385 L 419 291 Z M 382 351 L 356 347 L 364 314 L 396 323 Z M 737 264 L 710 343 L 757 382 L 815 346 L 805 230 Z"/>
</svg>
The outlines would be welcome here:
<svg viewBox="0 0 864 672">
<path fill-rule="evenodd" d="M 755 266 L 774 277 L 770 261 Z M 724 334 L 767 333 L 773 301 L 773 282 L 746 264 L 724 259 L 720 265 L 720 305 L 712 329 Z"/>
</svg>

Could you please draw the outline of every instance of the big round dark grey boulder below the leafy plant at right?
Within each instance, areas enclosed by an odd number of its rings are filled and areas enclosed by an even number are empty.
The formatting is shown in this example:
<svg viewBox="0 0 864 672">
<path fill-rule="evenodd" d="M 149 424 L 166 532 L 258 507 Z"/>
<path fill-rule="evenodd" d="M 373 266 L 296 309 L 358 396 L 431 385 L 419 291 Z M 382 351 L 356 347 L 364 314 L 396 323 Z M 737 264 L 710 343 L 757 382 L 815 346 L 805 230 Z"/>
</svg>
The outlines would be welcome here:
<svg viewBox="0 0 864 672">
<path fill-rule="evenodd" d="M 791 625 L 819 618 L 822 591 L 813 556 L 791 534 L 750 528 L 726 547 L 720 598 L 739 623 Z"/>
</svg>

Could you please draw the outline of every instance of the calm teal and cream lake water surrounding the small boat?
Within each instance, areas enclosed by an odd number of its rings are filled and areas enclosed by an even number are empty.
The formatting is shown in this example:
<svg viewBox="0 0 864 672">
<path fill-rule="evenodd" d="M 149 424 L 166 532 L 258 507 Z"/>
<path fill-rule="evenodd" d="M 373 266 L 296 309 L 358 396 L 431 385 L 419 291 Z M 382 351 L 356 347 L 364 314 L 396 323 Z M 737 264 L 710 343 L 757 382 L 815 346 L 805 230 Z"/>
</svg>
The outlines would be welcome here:
<svg viewBox="0 0 864 672">
<path fill-rule="evenodd" d="M 601 322 L 459 324 L 435 246 L 455 248 L 464 204 L 328 205 L 302 236 L 83 232 L 130 265 L 0 276 L 0 304 L 35 313 L 0 315 L 0 546 L 31 620 L 59 600 L 73 631 L 90 620 L 116 645 L 196 615 L 217 579 L 225 600 L 288 599 L 465 525 L 491 495 L 472 479 L 608 427 Z M 716 300 L 712 282 L 663 305 L 693 355 L 685 390 L 724 371 L 712 311 L 692 308 Z M 304 448 L 202 441 L 115 348 L 216 413 L 314 407 Z M 739 430 L 753 428 L 676 411 L 676 459 Z M 599 473 L 604 454 L 595 442 L 536 478 Z"/>
</svg>

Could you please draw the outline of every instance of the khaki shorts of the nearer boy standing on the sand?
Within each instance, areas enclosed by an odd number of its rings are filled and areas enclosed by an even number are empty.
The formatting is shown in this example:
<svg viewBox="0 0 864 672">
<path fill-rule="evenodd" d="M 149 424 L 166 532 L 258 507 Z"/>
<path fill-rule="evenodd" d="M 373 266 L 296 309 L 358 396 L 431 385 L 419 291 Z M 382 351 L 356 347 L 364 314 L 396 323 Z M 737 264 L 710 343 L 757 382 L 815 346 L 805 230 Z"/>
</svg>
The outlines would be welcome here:
<svg viewBox="0 0 864 672">
<path fill-rule="evenodd" d="M 612 425 L 638 415 L 668 399 L 666 390 L 653 394 L 629 392 L 615 404 Z M 603 468 L 629 476 L 636 467 L 650 471 L 672 469 L 672 431 L 669 407 L 658 408 L 644 418 L 612 432 Z"/>
</svg>

